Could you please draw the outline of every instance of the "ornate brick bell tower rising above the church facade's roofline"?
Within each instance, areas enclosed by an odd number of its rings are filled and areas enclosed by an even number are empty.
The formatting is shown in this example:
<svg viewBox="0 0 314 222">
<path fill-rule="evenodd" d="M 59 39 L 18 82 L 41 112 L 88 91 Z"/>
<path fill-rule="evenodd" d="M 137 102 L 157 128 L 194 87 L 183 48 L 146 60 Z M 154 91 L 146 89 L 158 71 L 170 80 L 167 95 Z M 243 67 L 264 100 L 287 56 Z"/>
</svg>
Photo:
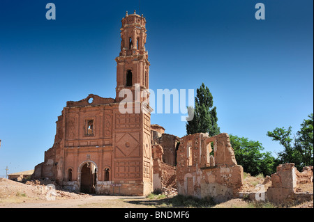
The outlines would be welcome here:
<svg viewBox="0 0 314 222">
<path fill-rule="evenodd" d="M 121 27 L 121 51 L 117 61 L 117 88 L 116 102 L 121 102 L 124 97 L 119 97 L 122 89 L 132 91 L 135 100 L 135 84 L 139 84 L 140 92 L 149 88 L 149 61 L 148 52 L 145 49 L 147 33 L 145 29 L 145 17 L 134 14 L 128 15 L 122 20 Z M 123 95 L 122 95 L 123 96 Z M 142 102 L 144 98 L 140 99 Z"/>
</svg>

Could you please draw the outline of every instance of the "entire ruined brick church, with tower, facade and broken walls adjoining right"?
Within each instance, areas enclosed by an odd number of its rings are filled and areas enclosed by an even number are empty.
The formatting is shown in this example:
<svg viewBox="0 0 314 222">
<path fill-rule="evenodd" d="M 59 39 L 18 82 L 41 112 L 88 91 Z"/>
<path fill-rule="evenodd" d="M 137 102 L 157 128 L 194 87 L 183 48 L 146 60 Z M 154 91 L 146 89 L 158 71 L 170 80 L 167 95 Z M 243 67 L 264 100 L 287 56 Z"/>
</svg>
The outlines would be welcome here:
<svg viewBox="0 0 314 222">
<path fill-rule="evenodd" d="M 151 125 L 149 93 L 144 93 L 150 65 L 144 46 L 146 19 L 134 12 L 121 22 L 115 99 L 90 94 L 66 102 L 54 145 L 32 177 L 83 193 L 147 196 L 166 182 L 183 195 L 231 198 L 243 184 L 243 168 L 237 165 L 229 136 L 179 138 Z M 131 109 L 121 112 L 121 104 Z"/>
</svg>

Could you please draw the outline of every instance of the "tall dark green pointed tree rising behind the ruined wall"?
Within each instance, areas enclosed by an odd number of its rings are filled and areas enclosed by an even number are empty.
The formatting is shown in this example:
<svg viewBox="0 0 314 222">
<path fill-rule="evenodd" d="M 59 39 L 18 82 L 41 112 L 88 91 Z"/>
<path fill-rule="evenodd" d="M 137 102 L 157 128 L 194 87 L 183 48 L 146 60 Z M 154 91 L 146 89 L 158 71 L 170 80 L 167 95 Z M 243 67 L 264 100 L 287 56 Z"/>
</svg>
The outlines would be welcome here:
<svg viewBox="0 0 314 222">
<path fill-rule="evenodd" d="M 215 136 L 220 133 L 217 121 L 216 106 L 213 107 L 213 96 L 209 88 L 202 83 L 196 90 L 194 118 L 186 122 L 186 133 L 209 133 L 209 136 Z"/>
</svg>

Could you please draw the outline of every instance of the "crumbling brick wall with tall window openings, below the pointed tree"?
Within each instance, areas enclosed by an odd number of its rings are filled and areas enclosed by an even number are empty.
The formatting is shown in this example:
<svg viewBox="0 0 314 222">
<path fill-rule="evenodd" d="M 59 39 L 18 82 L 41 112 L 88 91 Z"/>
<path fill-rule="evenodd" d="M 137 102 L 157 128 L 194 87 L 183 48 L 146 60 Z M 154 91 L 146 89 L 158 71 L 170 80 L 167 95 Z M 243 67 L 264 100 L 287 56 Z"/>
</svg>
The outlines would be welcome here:
<svg viewBox="0 0 314 222">
<path fill-rule="evenodd" d="M 228 134 L 209 137 L 199 133 L 184 136 L 177 151 L 179 194 L 216 202 L 232 198 L 243 184 L 243 168 L 237 165 Z"/>
</svg>

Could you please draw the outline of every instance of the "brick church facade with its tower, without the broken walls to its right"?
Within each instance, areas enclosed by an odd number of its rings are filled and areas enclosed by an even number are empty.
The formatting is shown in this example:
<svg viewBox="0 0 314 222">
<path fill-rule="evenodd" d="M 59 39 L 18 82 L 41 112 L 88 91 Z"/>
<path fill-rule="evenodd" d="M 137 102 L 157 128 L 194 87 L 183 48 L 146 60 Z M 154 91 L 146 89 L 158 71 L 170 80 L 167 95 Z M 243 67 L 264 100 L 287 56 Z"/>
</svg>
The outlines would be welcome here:
<svg viewBox="0 0 314 222">
<path fill-rule="evenodd" d="M 35 167 L 34 178 L 47 177 L 66 189 L 86 193 L 142 196 L 153 190 L 151 108 L 143 104 L 145 97 L 139 100 L 135 93 L 135 84 L 140 92 L 149 88 L 146 19 L 126 13 L 121 22 L 115 99 L 90 94 L 66 102 L 54 145 Z M 132 96 L 119 97 L 126 89 Z M 144 111 L 121 113 L 120 102 L 143 105 Z"/>
</svg>

